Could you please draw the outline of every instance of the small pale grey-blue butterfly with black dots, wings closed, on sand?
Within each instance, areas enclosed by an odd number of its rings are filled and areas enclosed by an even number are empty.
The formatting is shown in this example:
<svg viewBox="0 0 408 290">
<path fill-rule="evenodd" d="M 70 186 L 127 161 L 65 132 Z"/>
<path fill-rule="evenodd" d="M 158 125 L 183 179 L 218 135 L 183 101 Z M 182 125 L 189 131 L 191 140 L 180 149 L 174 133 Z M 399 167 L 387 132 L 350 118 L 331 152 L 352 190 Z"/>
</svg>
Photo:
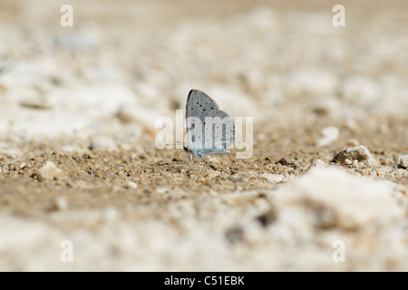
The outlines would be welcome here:
<svg viewBox="0 0 408 290">
<path fill-rule="evenodd" d="M 205 158 L 213 154 L 229 153 L 227 147 L 235 141 L 235 124 L 228 113 L 219 110 L 217 102 L 206 93 L 191 90 L 186 103 L 186 128 L 189 162 L 193 156 Z M 209 157 L 209 160 L 211 158 Z M 213 160 L 211 162 L 214 163 Z"/>
</svg>

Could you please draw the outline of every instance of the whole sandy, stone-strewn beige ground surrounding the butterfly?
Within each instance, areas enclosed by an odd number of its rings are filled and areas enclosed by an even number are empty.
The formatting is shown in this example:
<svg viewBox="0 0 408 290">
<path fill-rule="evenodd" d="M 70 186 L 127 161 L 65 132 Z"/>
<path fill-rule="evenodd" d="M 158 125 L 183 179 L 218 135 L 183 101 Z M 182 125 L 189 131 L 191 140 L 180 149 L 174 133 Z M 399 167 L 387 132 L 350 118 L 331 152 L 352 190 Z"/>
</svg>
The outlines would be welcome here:
<svg viewBox="0 0 408 290">
<path fill-rule="evenodd" d="M 406 3 L 61 5 L 0 4 L 0 270 L 408 270 Z M 193 88 L 248 158 L 158 148 Z"/>
</svg>

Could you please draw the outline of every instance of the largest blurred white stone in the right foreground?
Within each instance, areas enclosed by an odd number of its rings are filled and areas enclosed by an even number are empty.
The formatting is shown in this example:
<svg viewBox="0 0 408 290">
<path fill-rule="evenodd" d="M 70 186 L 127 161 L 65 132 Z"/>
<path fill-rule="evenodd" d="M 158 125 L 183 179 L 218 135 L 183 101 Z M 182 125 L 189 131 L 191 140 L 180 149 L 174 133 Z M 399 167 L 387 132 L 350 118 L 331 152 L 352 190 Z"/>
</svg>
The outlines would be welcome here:
<svg viewBox="0 0 408 290">
<path fill-rule="evenodd" d="M 383 182 L 327 168 L 306 172 L 273 195 L 279 216 L 302 208 L 303 219 L 316 227 L 356 228 L 388 223 L 403 217 Z M 298 211 L 298 210 L 297 210 Z"/>
</svg>

